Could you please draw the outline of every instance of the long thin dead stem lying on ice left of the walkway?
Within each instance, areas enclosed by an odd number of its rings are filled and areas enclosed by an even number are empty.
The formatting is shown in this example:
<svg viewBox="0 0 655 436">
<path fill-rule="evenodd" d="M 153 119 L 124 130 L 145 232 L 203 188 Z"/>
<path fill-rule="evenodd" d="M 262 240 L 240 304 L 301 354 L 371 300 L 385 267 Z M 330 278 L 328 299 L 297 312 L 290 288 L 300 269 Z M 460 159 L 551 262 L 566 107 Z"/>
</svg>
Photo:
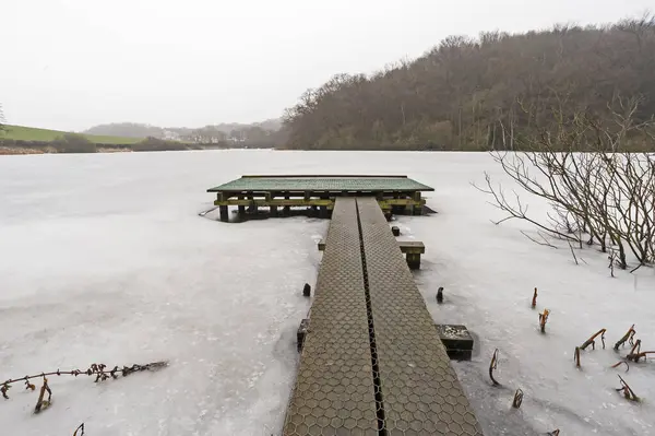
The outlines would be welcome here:
<svg viewBox="0 0 655 436">
<path fill-rule="evenodd" d="M 9 380 L 0 384 L 0 393 L 5 400 L 9 400 L 8 391 L 12 387 L 12 385 L 17 382 L 25 382 L 25 389 L 34 391 L 36 387 L 29 382 L 31 379 L 41 378 L 43 386 L 39 390 L 38 401 L 36 406 L 34 408 L 34 413 L 39 413 L 44 409 L 47 409 L 51 404 L 52 389 L 48 385 L 48 378 L 46 376 L 95 376 L 95 382 L 105 381 L 108 378 L 116 379 L 119 376 L 127 377 L 132 373 L 143 372 L 143 370 L 157 370 L 168 366 L 168 362 L 153 362 L 145 365 L 134 364 L 132 366 L 123 366 L 119 368 L 115 366 L 111 370 L 108 369 L 107 365 L 104 364 L 92 364 L 88 369 L 80 370 L 59 370 L 50 372 L 50 373 L 41 373 L 33 376 L 25 376 L 21 378 L 10 378 Z M 46 398 L 46 393 L 48 394 Z M 84 432 L 84 429 L 82 429 Z"/>
</svg>

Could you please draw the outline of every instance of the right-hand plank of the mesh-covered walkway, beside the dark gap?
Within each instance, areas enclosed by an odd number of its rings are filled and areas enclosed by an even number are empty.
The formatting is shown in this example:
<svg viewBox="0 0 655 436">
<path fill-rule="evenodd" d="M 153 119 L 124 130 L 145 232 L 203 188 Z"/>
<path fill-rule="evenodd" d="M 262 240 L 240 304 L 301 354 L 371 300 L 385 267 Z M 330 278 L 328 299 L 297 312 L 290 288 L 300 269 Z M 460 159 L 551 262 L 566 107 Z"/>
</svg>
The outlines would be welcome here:
<svg viewBox="0 0 655 436">
<path fill-rule="evenodd" d="M 407 262 L 372 198 L 357 199 L 388 435 L 481 435 Z"/>
</svg>

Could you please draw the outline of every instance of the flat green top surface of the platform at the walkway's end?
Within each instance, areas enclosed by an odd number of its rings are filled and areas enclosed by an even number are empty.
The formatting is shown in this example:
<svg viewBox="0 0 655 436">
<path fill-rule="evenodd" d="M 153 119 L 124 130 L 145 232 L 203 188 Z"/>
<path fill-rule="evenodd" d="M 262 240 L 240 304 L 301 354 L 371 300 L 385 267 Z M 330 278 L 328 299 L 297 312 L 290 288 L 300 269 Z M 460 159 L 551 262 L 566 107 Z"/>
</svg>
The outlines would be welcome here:
<svg viewBox="0 0 655 436">
<path fill-rule="evenodd" d="M 243 176 L 207 189 L 225 191 L 433 191 L 407 176 Z"/>
</svg>

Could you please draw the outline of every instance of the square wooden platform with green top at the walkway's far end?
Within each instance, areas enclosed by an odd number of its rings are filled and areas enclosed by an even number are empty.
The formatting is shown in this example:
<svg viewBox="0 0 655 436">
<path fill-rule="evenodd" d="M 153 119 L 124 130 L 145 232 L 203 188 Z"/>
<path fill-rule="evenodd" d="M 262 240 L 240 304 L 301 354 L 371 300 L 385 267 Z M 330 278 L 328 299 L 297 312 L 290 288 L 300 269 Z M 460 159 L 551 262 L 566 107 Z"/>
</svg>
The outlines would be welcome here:
<svg viewBox="0 0 655 436">
<path fill-rule="evenodd" d="M 429 186 L 407 176 L 242 176 L 239 179 L 207 189 L 216 193 L 214 205 L 221 221 L 229 221 L 229 207 L 239 216 L 257 214 L 265 208 L 270 216 L 286 215 L 290 208 L 307 208 L 321 217 L 329 217 L 338 197 L 371 196 L 385 214 L 422 213 L 426 201 L 422 191 Z"/>
</svg>

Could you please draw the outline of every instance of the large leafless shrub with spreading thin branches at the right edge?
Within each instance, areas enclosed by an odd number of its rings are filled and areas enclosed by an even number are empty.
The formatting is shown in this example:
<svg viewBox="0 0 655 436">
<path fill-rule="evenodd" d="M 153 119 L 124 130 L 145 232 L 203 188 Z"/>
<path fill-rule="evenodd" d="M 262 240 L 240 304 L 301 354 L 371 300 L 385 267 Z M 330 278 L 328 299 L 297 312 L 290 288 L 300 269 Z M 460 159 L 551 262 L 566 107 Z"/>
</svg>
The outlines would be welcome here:
<svg viewBox="0 0 655 436">
<path fill-rule="evenodd" d="M 567 114 L 565 105 L 556 106 L 553 123 L 519 140 L 525 151 L 491 152 L 528 199 L 550 205 L 547 216 L 528 215 L 525 199 L 516 191 L 508 198 L 486 173 L 486 186 L 478 189 L 507 213 L 500 222 L 527 221 L 541 235 L 567 240 L 571 249 L 572 244 L 582 248 L 583 241 L 603 252 L 610 249 L 621 269 L 628 268 L 628 252 L 636 268 L 655 262 L 655 154 L 629 151 L 655 150 L 655 123 L 636 120 L 640 103 L 617 96 L 603 115 Z"/>
</svg>

